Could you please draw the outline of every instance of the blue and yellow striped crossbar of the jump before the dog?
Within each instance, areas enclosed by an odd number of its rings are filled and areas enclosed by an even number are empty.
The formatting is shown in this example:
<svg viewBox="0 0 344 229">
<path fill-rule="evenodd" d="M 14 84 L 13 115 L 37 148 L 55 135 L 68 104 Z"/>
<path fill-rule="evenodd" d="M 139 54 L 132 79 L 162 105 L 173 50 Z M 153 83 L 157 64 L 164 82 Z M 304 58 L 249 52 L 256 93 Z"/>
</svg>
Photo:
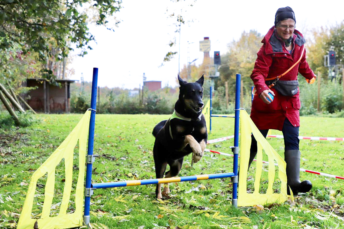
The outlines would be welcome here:
<svg viewBox="0 0 344 229">
<path fill-rule="evenodd" d="M 180 177 L 160 178 L 160 179 L 95 183 L 95 184 L 92 184 L 91 187 L 92 188 L 114 188 L 114 187 L 161 184 L 161 183 L 172 183 L 172 182 L 182 182 L 182 181 L 208 180 L 208 179 L 216 179 L 216 178 L 227 178 L 227 177 L 232 177 L 232 176 L 234 176 L 234 173 L 215 173 L 215 174 L 180 176 Z"/>
</svg>

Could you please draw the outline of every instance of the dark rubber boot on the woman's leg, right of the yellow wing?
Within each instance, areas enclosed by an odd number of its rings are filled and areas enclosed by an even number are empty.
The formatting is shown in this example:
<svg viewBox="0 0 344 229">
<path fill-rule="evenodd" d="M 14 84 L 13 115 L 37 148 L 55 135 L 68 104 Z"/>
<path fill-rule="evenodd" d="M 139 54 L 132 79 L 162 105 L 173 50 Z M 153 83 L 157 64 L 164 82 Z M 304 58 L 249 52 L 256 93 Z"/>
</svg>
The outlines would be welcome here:
<svg viewBox="0 0 344 229">
<path fill-rule="evenodd" d="M 287 163 L 287 194 L 290 195 L 289 187 L 293 195 L 299 192 L 309 192 L 312 183 L 308 180 L 300 181 L 300 150 L 286 150 L 284 152 L 284 160 Z"/>
</svg>

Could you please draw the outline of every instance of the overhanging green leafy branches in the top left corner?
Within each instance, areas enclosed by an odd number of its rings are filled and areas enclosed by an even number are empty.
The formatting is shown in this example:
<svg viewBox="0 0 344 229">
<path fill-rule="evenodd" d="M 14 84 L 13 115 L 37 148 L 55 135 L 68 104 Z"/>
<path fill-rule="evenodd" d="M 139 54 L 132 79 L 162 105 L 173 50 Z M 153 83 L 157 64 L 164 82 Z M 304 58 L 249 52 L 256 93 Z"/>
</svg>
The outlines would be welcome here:
<svg viewBox="0 0 344 229">
<path fill-rule="evenodd" d="M 121 1 L 88 0 L 1 0 L 0 1 L 0 49 L 21 45 L 26 54 L 33 50 L 40 60 L 46 55 L 66 56 L 71 44 L 76 44 L 87 54 L 86 49 L 95 37 L 88 32 L 87 9 L 96 13 L 92 19 L 97 25 L 107 25 L 108 18 L 121 8 Z M 91 22 L 92 22 L 91 20 Z M 109 28 L 111 29 L 111 28 Z M 53 38 L 58 51 L 53 53 L 50 41 Z M 68 43 L 70 42 L 70 43 Z"/>
</svg>

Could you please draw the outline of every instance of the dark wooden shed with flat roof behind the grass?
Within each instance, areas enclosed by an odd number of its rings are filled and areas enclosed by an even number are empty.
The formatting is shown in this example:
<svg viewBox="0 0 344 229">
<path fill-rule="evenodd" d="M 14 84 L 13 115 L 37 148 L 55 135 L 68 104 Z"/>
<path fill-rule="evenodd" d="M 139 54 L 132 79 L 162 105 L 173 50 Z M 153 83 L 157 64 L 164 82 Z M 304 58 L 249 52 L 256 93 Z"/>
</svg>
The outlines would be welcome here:
<svg viewBox="0 0 344 229">
<path fill-rule="evenodd" d="M 50 84 L 46 79 L 26 79 L 26 87 L 37 87 L 27 93 L 28 104 L 36 112 L 68 113 L 70 111 L 71 83 L 78 80 L 56 80 L 60 86 Z"/>
</svg>

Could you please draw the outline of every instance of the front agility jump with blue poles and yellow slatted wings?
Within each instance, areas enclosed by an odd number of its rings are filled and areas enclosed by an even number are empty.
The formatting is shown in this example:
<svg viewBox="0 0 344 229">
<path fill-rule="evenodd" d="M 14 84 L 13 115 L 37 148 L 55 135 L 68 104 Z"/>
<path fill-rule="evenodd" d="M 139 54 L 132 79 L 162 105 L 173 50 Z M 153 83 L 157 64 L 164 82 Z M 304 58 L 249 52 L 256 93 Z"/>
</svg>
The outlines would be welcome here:
<svg viewBox="0 0 344 229">
<path fill-rule="evenodd" d="M 94 143 L 94 130 L 95 130 L 95 114 L 96 114 L 96 96 L 97 96 L 97 78 L 98 68 L 93 69 L 93 82 L 92 82 L 92 99 L 91 108 L 89 108 L 84 114 L 83 118 L 79 121 L 77 126 L 62 142 L 62 144 L 52 153 L 52 155 L 37 169 L 32 175 L 28 192 L 25 198 L 25 202 L 22 208 L 21 216 L 18 222 L 18 229 L 26 228 L 72 228 L 82 226 L 83 224 L 88 225 L 90 222 L 90 198 L 96 189 L 110 188 L 110 187 L 121 187 L 121 186 L 134 186 L 134 185 L 147 185 L 147 184 L 158 184 L 158 183 L 169 183 L 169 182 L 182 182 L 182 181 L 196 181 L 196 180 L 207 180 L 216 178 L 231 178 L 233 183 L 233 206 L 253 206 L 254 204 L 265 204 L 265 203 L 283 203 L 287 200 L 287 176 L 286 176 L 286 163 L 277 154 L 277 152 L 268 144 L 266 139 L 260 134 L 257 127 L 250 120 L 248 114 L 244 110 L 240 110 L 240 74 L 236 75 L 236 99 L 235 99 L 235 128 L 234 128 L 234 146 L 230 147 L 233 151 L 233 172 L 218 173 L 218 174 L 204 174 L 184 177 L 173 177 L 173 178 L 161 178 L 161 179 L 149 179 L 149 180 L 133 180 L 133 181 L 121 181 L 121 182 L 108 182 L 108 183 L 93 183 L 92 180 L 92 165 L 97 155 L 93 155 L 93 143 Z M 241 159 L 240 159 L 240 187 L 238 199 L 238 152 L 239 152 L 239 116 L 241 118 Z M 88 152 L 86 155 L 86 140 L 87 140 L 87 128 L 89 129 L 88 134 Z M 260 143 L 260 148 L 257 158 L 257 171 L 261 171 L 261 155 L 264 149 L 265 153 L 269 157 L 269 186 L 266 193 L 259 193 L 259 181 L 260 174 L 256 175 L 255 192 L 246 192 L 246 180 L 248 167 L 248 154 L 247 142 L 250 141 L 251 133 L 254 134 L 257 141 Z M 73 173 L 73 154 L 75 146 L 79 142 L 79 174 L 78 182 L 76 186 L 75 197 L 71 197 L 72 187 L 72 173 Z M 246 148 L 245 148 L 246 147 Z M 86 158 L 86 181 L 85 188 L 83 190 L 84 182 L 84 165 Z M 54 196 L 54 184 L 55 184 L 55 169 L 60 161 L 64 159 L 65 163 L 65 187 L 62 197 L 62 204 L 60 212 L 55 217 L 50 217 L 50 209 L 52 205 L 52 199 Z M 281 181 L 280 193 L 272 193 L 272 184 L 275 179 L 275 164 L 274 161 L 278 162 L 279 174 L 278 178 Z M 45 185 L 45 199 L 43 210 L 40 219 L 31 218 L 31 212 L 34 201 L 34 193 L 36 183 L 39 178 L 47 173 L 47 181 Z M 84 202 L 84 214 L 82 214 L 83 201 Z M 67 206 L 70 198 L 75 198 L 75 211 L 72 214 L 67 214 Z"/>
</svg>

